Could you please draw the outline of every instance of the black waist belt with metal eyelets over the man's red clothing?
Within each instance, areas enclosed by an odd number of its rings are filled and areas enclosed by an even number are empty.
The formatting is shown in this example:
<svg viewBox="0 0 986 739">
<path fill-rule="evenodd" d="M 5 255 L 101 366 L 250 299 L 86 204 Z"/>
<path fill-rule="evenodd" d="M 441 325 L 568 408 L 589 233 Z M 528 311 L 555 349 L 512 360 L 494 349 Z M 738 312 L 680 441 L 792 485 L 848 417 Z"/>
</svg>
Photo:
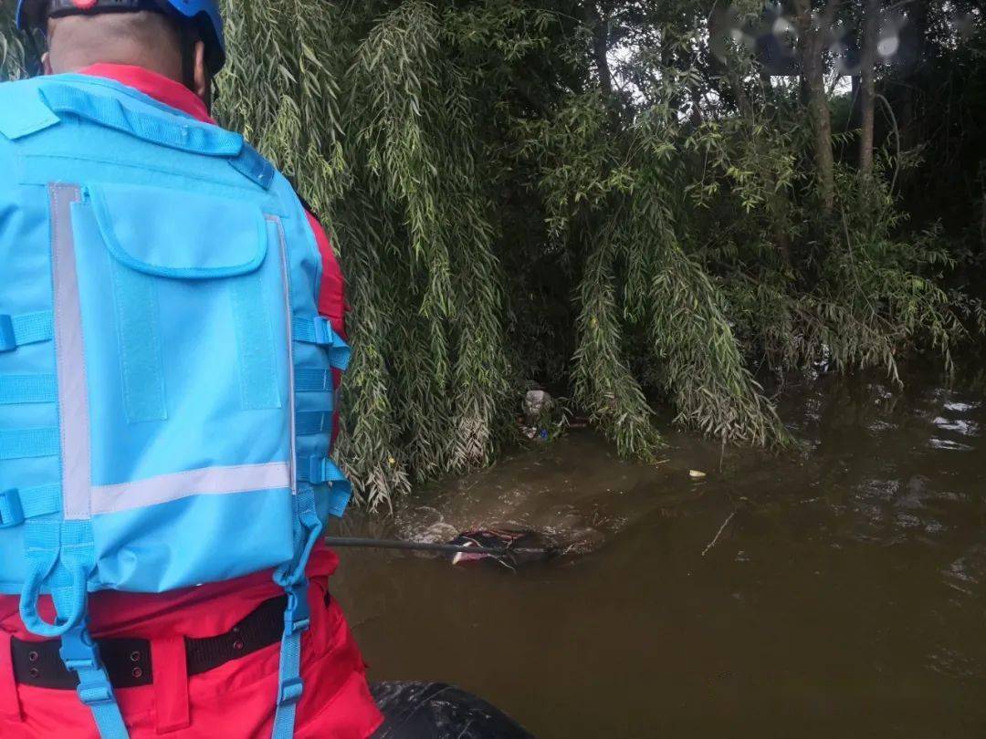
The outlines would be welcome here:
<svg viewBox="0 0 986 739">
<path fill-rule="evenodd" d="M 281 640 L 284 609 L 282 595 L 261 603 L 243 621 L 218 637 L 185 637 L 185 659 L 189 675 L 199 675 L 234 659 L 246 656 Z M 154 682 L 151 642 L 146 638 L 98 639 L 100 654 L 114 688 L 135 688 Z M 22 641 L 11 639 L 14 678 L 35 688 L 75 690 L 79 676 L 67 669 L 58 655 L 60 639 Z"/>
</svg>

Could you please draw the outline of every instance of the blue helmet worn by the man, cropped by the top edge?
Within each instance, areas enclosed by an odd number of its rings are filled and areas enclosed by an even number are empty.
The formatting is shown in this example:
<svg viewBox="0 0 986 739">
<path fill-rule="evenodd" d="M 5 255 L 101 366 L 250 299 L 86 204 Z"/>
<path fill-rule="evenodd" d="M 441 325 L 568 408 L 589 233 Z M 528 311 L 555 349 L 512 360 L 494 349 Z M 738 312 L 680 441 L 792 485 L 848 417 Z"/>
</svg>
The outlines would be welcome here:
<svg viewBox="0 0 986 739">
<path fill-rule="evenodd" d="M 18 0 L 17 27 L 44 29 L 48 18 L 136 11 L 164 13 L 195 24 L 202 32 L 209 69 L 216 73 L 226 62 L 226 38 L 219 0 Z"/>
</svg>

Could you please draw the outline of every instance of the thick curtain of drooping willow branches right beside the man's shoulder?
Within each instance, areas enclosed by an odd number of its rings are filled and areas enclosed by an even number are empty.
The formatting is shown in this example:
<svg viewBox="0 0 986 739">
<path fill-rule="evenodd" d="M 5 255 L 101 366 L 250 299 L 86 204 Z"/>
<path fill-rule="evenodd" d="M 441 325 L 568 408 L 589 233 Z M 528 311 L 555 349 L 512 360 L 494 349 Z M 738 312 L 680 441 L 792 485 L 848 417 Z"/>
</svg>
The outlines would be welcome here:
<svg viewBox="0 0 986 739">
<path fill-rule="evenodd" d="M 331 228 L 355 348 L 339 455 L 377 505 L 492 461 L 510 371 L 465 79 L 432 5 L 373 6 L 231 4 L 218 114 Z"/>
</svg>

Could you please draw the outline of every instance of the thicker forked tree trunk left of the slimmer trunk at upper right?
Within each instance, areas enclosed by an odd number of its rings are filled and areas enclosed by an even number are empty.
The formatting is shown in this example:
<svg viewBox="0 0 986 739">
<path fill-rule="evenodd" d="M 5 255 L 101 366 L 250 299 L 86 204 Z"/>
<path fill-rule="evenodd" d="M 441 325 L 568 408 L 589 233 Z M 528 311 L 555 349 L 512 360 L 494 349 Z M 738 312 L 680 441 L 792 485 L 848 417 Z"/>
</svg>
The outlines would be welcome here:
<svg viewBox="0 0 986 739">
<path fill-rule="evenodd" d="M 841 0 L 828 0 L 817 20 L 811 13 L 810 0 L 795 0 L 796 23 L 800 32 L 802 77 L 808 96 L 809 119 L 814 135 L 814 166 L 818 192 L 826 213 L 835 208 L 835 158 L 832 154 L 832 117 L 825 90 L 823 54 L 825 41 L 835 20 Z"/>
</svg>

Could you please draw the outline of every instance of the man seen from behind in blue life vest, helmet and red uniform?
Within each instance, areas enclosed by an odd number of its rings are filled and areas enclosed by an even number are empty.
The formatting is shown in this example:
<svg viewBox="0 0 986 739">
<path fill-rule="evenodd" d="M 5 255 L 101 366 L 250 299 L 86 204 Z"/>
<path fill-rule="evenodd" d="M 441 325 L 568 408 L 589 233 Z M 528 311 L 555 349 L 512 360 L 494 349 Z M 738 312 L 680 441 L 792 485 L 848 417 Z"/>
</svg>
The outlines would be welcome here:
<svg viewBox="0 0 986 739">
<path fill-rule="evenodd" d="M 321 543 L 328 239 L 209 115 L 215 0 L 21 0 L 0 85 L 0 736 L 370 736 Z"/>
</svg>

